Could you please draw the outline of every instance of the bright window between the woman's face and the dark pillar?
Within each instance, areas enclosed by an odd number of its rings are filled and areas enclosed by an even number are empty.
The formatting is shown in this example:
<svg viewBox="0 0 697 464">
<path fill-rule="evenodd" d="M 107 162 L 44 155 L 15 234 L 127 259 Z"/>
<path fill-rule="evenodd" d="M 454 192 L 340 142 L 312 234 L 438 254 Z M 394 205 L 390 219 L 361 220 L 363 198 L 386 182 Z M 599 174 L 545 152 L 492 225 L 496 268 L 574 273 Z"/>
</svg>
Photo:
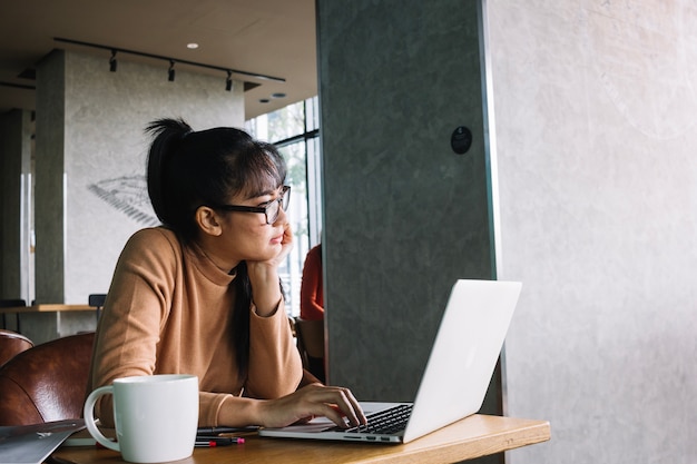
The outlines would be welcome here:
<svg viewBox="0 0 697 464">
<path fill-rule="evenodd" d="M 274 144 L 288 166 L 287 184 L 293 187 L 288 216 L 295 244 L 281 267 L 288 315 L 300 315 L 303 263 L 310 248 L 320 243 L 321 154 L 317 97 L 289 105 L 246 122 L 247 131 Z"/>
</svg>

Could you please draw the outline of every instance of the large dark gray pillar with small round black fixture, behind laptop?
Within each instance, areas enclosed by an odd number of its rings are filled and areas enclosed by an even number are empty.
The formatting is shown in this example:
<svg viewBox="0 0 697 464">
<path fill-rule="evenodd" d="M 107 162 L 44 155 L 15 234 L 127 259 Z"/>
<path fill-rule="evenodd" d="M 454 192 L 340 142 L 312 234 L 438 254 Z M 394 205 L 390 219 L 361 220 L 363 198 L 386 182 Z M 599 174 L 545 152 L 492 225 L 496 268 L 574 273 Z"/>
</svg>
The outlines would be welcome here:
<svg viewBox="0 0 697 464">
<path fill-rule="evenodd" d="M 364 399 L 413 399 L 455 279 L 495 277 L 478 13 L 317 2 L 328 372 Z"/>
</svg>

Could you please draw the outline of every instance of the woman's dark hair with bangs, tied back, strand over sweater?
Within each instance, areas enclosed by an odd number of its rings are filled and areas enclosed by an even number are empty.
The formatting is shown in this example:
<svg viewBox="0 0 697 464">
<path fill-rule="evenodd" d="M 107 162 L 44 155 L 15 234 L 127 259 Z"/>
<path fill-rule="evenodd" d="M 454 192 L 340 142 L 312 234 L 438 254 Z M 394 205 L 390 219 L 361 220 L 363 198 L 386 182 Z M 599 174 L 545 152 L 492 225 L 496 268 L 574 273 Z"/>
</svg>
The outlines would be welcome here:
<svg viewBox="0 0 697 464">
<path fill-rule="evenodd" d="M 253 197 L 285 181 L 286 165 L 276 148 L 243 130 L 194 131 L 181 119 L 159 119 L 150 122 L 146 132 L 154 137 L 147 164 L 153 209 L 185 243 L 198 234 L 198 207 L 225 204 L 240 192 Z M 246 376 L 252 285 L 246 263 L 240 263 L 236 273 L 233 337 L 239 375 Z"/>
</svg>

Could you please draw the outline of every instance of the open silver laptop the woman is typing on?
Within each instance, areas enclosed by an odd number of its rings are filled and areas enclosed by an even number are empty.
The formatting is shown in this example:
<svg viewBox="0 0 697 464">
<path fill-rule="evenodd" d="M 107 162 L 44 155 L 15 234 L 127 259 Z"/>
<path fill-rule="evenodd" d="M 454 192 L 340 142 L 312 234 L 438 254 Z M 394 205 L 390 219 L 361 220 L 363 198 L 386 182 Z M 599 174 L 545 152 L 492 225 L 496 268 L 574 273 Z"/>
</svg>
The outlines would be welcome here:
<svg viewBox="0 0 697 464">
<path fill-rule="evenodd" d="M 261 428 L 259 435 L 408 443 L 477 413 L 521 287 L 518 282 L 500 280 L 463 279 L 454 284 L 413 403 L 361 403 L 367 426 L 343 430 L 326 417 L 317 417 L 302 425 Z M 392 413 L 401 424 L 390 424 Z"/>
</svg>

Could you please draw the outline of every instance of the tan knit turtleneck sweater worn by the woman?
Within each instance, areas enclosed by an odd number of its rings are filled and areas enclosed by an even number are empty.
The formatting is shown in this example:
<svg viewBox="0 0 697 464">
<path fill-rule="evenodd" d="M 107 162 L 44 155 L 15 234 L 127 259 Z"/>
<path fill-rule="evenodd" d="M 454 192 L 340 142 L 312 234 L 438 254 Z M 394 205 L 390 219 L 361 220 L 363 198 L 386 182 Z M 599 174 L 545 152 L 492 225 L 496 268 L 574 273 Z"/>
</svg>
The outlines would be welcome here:
<svg viewBox="0 0 697 464">
<path fill-rule="evenodd" d="M 89 391 L 132 375 L 194 374 L 199 426 L 219 425 L 223 402 L 243 392 L 255 398 L 294 392 L 303 368 L 283 302 L 268 317 L 249 308 L 249 369 L 238 378 L 234 278 L 168 229 L 136 233 L 119 257 L 97 327 Z M 106 425 L 112 424 L 110 404 L 107 396 L 97 409 Z"/>
</svg>

